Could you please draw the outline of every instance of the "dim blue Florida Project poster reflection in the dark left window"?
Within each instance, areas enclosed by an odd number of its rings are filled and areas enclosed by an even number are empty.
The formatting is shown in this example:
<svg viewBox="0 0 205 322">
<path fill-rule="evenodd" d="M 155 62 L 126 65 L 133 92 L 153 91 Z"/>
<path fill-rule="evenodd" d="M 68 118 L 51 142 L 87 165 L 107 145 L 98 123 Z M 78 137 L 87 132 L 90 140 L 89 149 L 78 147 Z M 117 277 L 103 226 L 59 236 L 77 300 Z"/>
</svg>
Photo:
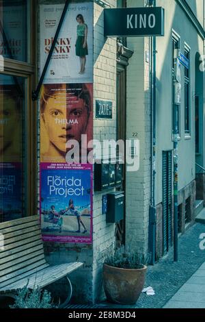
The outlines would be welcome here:
<svg viewBox="0 0 205 322">
<path fill-rule="evenodd" d="M 22 217 L 23 212 L 22 164 L 0 163 L 0 222 Z"/>
</svg>

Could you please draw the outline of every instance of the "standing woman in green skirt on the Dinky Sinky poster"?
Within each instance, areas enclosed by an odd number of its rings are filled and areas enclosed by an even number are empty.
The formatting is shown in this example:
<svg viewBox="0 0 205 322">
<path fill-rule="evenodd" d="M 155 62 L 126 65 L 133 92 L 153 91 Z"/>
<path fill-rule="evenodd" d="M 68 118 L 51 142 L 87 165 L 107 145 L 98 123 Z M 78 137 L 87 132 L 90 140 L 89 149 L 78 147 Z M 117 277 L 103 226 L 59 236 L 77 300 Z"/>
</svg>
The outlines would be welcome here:
<svg viewBox="0 0 205 322">
<path fill-rule="evenodd" d="M 81 70 L 79 74 L 85 73 L 86 55 L 88 55 L 87 49 L 87 25 L 84 21 L 83 15 L 78 14 L 76 17 L 77 22 L 77 40 L 75 44 L 76 55 L 80 58 Z"/>
</svg>

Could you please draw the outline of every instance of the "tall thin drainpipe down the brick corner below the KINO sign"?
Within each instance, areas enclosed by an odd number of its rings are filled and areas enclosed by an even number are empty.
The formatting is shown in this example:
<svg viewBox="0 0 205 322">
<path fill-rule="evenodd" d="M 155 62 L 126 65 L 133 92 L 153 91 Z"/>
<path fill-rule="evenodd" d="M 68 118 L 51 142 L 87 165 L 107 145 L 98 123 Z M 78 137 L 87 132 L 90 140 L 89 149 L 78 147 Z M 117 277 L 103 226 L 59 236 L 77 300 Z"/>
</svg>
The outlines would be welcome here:
<svg viewBox="0 0 205 322">
<path fill-rule="evenodd" d="M 156 7 L 156 0 L 152 1 L 153 7 Z M 150 38 L 150 47 L 152 52 L 151 74 L 151 203 L 149 214 L 149 251 L 151 253 L 150 264 L 154 265 L 156 261 L 156 201 L 155 201 L 155 181 L 156 181 L 156 36 Z"/>
</svg>

